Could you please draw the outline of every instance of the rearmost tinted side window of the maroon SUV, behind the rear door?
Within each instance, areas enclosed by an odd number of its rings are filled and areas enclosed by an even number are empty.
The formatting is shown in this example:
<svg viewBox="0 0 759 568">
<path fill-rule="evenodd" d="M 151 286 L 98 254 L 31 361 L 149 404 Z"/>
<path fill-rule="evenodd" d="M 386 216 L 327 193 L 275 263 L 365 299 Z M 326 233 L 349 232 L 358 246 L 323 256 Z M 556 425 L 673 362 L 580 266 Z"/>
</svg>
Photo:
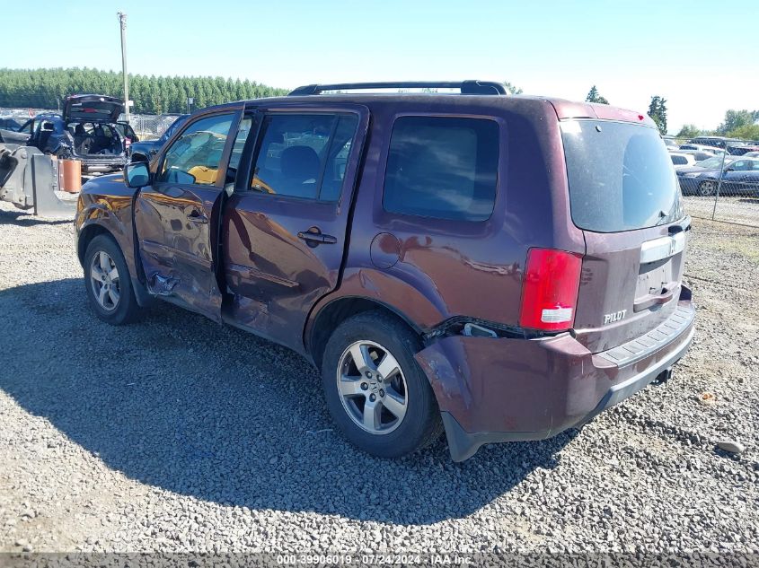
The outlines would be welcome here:
<svg viewBox="0 0 759 568">
<path fill-rule="evenodd" d="M 493 213 L 499 126 L 485 118 L 401 117 L 393 125 L 386 211 L 455 221 Z"/>
</svg>

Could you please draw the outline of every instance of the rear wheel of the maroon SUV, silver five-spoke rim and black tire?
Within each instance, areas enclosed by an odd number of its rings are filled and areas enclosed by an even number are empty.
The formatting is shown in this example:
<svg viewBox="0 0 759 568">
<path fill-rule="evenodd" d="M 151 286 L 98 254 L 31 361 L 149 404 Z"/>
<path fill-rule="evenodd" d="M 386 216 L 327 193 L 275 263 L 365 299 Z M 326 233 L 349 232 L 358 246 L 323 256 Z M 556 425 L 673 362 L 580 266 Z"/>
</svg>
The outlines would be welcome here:
<svg viewBox="0 0 759 568">
<path fill-rule="evenodd" d="M 429 381 L 414 360 L 419 337 L 399 319 L 368 311 L 332 333 L 322 359 L 327 406 L 360 450 L 399 458 L 443 432 Z"/>
</svg>

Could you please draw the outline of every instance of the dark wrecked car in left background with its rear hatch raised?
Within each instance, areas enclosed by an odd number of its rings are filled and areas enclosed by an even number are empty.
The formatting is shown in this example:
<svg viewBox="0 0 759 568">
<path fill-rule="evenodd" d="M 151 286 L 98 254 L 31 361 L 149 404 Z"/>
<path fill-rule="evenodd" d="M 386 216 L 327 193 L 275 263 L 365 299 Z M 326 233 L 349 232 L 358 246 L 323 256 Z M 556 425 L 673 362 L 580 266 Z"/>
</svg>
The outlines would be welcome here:
<svg viewBox="0 0 759 568">
<path fill-rule="evenodd" d="M 83 172 L 121 170 L 127 163 L 127 137 L 122 132 L 131 130 L 118 122 L 123 110 L 123 101 L 115 97 L 66 97 L 60 114 L 43 113 L 33 118 L 26 144 L 59 158 L 79 160 Z"/>
</svg>

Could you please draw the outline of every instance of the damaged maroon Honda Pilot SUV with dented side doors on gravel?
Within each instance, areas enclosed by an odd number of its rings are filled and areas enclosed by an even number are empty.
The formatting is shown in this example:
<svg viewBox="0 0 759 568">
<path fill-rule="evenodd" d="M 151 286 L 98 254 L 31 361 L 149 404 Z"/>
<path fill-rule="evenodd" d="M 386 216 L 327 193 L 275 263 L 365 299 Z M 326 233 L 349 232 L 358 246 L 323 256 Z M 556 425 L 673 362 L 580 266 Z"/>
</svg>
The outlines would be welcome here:
<svg viewBox="0 0 759 568">
<path fill-rule="evenodd" d="M 461 94 L 352 93 L 386 87 Z M 101 319 L 160 298 L 287 345 L 377 456 L 443 428 L 455 460 L 551 437 L 668 377 L 693 337 L 690 220 L 653 121 L 498 83 L 199 111 L 150 164 L 88 182 L 75 226 Z"/>
</svg>

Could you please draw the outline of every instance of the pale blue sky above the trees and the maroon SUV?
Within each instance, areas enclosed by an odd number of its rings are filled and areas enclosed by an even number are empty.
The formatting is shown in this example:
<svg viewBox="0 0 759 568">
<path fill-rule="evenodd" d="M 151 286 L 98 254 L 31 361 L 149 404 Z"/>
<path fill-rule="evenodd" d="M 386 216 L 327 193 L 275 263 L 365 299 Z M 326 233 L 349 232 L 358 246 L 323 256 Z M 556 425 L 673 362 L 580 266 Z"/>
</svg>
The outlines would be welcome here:
<svg viewBox="0 0 759 568">
<path fill-rule="evenodd" d="M 613 104 L 668 100 L 670 131 L 759 109 L 759 2 L 76 0 L 7 2 L 0 66 L 240 77 L 274 86 L 492 79 Z M 732 7 L 730 7 L 732 6 Z M 7 46 L 18 46 L 10 50 Z"/>
</svg>

